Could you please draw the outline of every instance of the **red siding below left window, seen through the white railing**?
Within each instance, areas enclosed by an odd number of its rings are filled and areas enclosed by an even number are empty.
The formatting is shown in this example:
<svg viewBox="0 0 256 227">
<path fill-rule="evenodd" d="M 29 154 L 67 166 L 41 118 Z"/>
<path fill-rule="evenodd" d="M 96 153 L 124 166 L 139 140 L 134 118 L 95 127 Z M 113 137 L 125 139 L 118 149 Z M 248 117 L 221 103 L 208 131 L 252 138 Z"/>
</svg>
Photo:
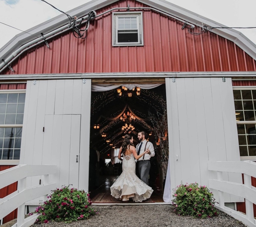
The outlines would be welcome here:
<svg viewBox="0 0 256 227">
<path fill-rule="evenodd" d="M 11 167 L 14 167 L 14 166 L 0 166 L 0 171 L 4 171 L 5 169 L 9 169 Z M 17 190 L 17 182 L 12 183 L 11 185 L 0 189 L 0 198 L 10 195 L 11 193 L 13 193 L 16 190 Z M 14 218 L 17 218 L 17 209 L 10 212 L 9 215 L 5 216 L 3 219 L 3 223 L 9 222 Z"/>
</svg>

